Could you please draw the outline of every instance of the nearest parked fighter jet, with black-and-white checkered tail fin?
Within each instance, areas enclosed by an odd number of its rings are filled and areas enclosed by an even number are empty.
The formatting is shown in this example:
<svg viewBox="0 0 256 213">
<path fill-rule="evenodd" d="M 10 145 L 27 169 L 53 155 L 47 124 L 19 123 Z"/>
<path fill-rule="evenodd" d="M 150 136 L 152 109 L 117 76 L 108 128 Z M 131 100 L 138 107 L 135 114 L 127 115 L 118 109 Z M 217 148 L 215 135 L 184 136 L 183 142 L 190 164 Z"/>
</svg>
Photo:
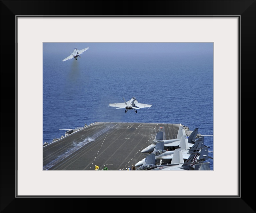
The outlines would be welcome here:
<svg viewBox="0 0 256 213">
<path fill-rule="evenodd" d="M 200 153 L 198 151 L 191 153 L 189 158 L 184 162 L 181 149 L 175 149 L 171 164 L 155 165 L 155 154 L 151 153 L 146 157 L 146 164 L 140 166 L 136 170 L 210 170 L 210 162 L 204 162 L 207 159 L 207 156 L 208 147 L 205 147 L 201 149 Z"/>
</svg>

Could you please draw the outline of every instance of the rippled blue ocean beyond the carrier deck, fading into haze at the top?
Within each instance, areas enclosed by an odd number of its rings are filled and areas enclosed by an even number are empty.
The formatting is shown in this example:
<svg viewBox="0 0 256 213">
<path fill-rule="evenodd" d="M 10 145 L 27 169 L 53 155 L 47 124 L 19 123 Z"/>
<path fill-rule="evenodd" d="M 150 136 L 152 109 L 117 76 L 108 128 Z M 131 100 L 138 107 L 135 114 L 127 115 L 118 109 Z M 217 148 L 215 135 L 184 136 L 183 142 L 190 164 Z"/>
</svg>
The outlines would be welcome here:
<svg viewBox="0 0 256 213">
<path fill-rule="evenodd" d="M 181 123 L 213 135 L 213 60 L 213 43 L 43 43 L 42 142 L 96 121 Z M 133 96 L 152 107 L 108 107 Z M 213 136 L 204 143 L 213 158 Z"/>
</svg>

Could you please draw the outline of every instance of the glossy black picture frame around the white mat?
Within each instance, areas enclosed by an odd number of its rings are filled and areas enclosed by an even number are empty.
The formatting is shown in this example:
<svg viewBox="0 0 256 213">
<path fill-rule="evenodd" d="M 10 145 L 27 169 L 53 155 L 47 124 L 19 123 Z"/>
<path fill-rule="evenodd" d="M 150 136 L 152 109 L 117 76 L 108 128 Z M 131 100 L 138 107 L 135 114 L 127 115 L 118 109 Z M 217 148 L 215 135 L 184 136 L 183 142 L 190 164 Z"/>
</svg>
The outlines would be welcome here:
<svg viewBox="0 0 256 213">
<path fill-rule="evenodd" d="M 1 1 L 1 212 L 255 212 L 255 0 L 249 1 Z M 17 16 L 237 16 L 239 56 L 239 196 L 16 197 Z M 15 53 L 14 53 L 15 51 Z M 16 59 L 16 63 L 14 63 Z M 243 75 L 242 75 L 243 74 Z M 242 87 L 243 85 L 243 87 Z M 246 86 L 246 87 L 245 87 Z M 254 86 L 251 88 L 251 86 Z M 241 94 L 244 92 L 244 97 Z M 245 93 L 247 94 L 245 96 Z M 15 94 L 15 98 L 14 98 Z M 12 96 L 13 95 L 13 96 Z M 249 98 L 248 98 L 249 95 Z M 245 101 L 245 97 L 247 100 Z M 253 106 L 251 101 L 253 99 Z M 247 110 L 241 105 L 247 105 Z M 14 122 L 15 118 L 15 122 Z M 254 116 L 255 118 L 255 116 Z M 248 121 L 249 120 L 249 121 Z M 14 128 L 15 123 L 15 128 Z M 248 124 L 249 123 L 249 124 Z M 232 134 L 229 124 L 227 134 Z M 243 127 L 243 128 L 242 128 Z M 245 130 L 245 127 L 246 130 Z M 224 127 L 223 127 L 224 128 Z M 242 131 L 243 130 L 243 131 Z M 248 137 L 248 138 L 247 138 Z M 250 144 L 249 144 L 250 143 Z M 250 151 L 251 150 L 251 151 Z M 232 162 L 232 153 L 223 164 Z M 235 162 L 237 163 L 237 162 Z M 99 183 L 103 187 L 104 180 Z M 198 185 L 204 184 L 202 180 Z M 127 187 L 132 187 L 128 183 Z M 191 186 L 188 190 L 197 190 Z M 142 190 L 135 188 L 134 190 Z M 169 188 L 171 190 L 171 188 Z M 99 199 L 100 198 L 100 199 Z M 86 200 L 85 200 L 86 199 Z M 186 205 L 187 204 L 187 205 Z"/>
</svg>

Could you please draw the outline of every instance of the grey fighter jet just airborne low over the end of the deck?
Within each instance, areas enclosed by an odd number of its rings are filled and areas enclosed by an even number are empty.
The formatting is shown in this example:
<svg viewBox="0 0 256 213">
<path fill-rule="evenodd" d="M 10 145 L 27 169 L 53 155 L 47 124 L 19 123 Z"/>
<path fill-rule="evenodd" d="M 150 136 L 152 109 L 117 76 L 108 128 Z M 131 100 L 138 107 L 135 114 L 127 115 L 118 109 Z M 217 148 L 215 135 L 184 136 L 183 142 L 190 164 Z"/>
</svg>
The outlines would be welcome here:
<svg viewBox="0 0 256 213">
<path fill-rule="evenodd" d="M 132 97 L 132 99 L 130 101 L 127 101 L 127 102 L 125 101 L 124 97 L 123 97 L 123 100 L 124 100 L 124 103 L 109 104 L 108 106 L 109 107 L 117 107 L 117 109 L 125 108 L 125 112 L 127 112 L 130 109 L 134 109 L 136 113 L 137 113 L 137 109 L 152 106 L 150 104 L 140 104 L 140 103 L 138 103 L 138 101 L 136 100 L 135 97 Z"/>
</svg>

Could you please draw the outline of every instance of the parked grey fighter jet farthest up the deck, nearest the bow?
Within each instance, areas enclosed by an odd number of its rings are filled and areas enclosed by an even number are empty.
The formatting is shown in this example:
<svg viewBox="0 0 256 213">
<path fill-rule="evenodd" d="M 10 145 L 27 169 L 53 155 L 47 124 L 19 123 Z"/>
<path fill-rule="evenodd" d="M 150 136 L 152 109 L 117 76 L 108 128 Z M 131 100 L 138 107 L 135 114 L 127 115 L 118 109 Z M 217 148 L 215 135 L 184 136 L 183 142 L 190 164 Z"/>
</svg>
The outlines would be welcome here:
<svg viewBox="0 0 256 213">
<path fill-rule="evenodd" d="M 198 128 L 195 128 L 194 131 L 189 135 L 188 137 L 188 142 L 189 146 L 192 147 L 194 145 L 196 136 L 197 136 Z M 170 140 L 163 140 L 164 141 L 164 146 L 179 146 L 180 140 L 182 135 L 186 135 L 184 126 L 179 126 L 178 134 L 176 139 L 170 139 Z M 155 148 L 155 143 L 158 141 L 153 142 L 151 145 L 147 146 L 145 149 L 141 151 L 141 153 L 150 153 L 154 150 Z"/>
</svg>

